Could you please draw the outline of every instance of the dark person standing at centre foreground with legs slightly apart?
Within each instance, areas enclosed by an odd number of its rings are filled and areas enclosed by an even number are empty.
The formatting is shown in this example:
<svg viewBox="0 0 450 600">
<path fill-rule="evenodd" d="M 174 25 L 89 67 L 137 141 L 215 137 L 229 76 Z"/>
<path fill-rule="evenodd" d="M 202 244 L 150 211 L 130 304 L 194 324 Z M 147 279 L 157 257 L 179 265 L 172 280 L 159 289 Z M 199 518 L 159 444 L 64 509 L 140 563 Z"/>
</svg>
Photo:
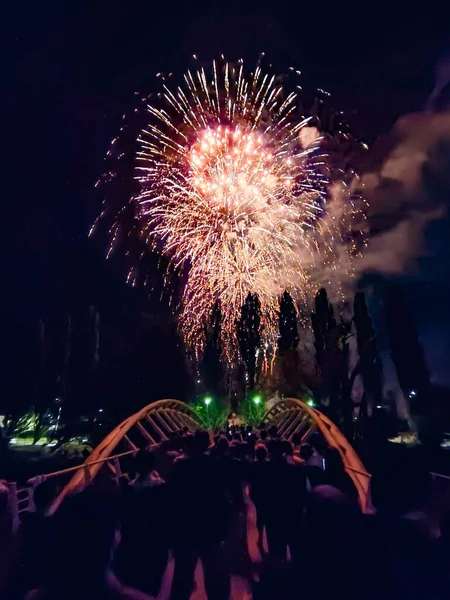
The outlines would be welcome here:
<svg viewBox="0 0 450 600">
<path fill-rule="evenodd" d="M 230 505 L 219 459 L 208 456 L 207 432 L 197 433 L 178 460 L 170 486 L 171 529 L 175 570 L 173 600 L 188 600 L 198 559 L 203 564 L 208 598 L 227 599 L 230 591 L 223 542 L 229 524 Z"/>
</svg>

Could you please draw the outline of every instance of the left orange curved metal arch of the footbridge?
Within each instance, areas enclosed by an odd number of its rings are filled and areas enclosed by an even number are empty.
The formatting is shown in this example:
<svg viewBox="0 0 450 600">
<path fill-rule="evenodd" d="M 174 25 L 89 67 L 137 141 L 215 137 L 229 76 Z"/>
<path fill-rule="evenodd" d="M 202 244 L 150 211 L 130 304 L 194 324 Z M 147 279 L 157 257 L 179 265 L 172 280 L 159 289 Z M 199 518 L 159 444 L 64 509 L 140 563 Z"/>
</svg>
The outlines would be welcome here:
<svg viewBox="0 0 450 600">
<path fill-rule="evenodd" d="M 152 415 L 158 416 L 158 414 L 160 414 L 161 412 L 164 415 L 168 411 L 176 411 L 177 413 L 183 414 L 184 424 L 188 426 L 191 430 L 195 430 L 201 427 L 200 421 L 198 420 L 196 413 L 184 402 L 180 402 L 179 400 L 168 399 L 158 400 L 157 402 L 152 402 L 151 404 L 148 404 L 137 413 L 131 415 L 130 417 L 122 421 L 120 425 L 117 425 L 117 427 L 113 429 L 111 433 L 109 433 L 102 442 L 100 442 L 100 444 L 92 451 L 92 453 L 83 463 L 83 465 L 81 465 L 80 468 L 77 471 L 75 471 L 73 477 L 63 488 L 61 493 L 57 496 L 57 498 L 55 499 L 48 511 L 49 514 L 53 514 L 58 509 L 61 502 L 68 494 L 83 489 L 86 485 L 86 482 L 92 480 L 97 475 L 97 473 L 104 465 L 104 460 L 113 454 L 114 450 L 117 448 L 118 444 L 122 440 L 125 440 L 128 443 L 130 447 L 130 452 L 137 451 L 139 449 L 133 444 L 133 442 L 129 440 L 127 436 L 129 431 L 134 426 L 136 426 L 138 428 L 138 431 L 141 433 L 143 441 L 145 442 L 145 444 L 143 444 L 144 446 L 157 445 L 155 440 L 149 439 L 151 436 L 145 430 L 145 428 L 141 424 L 141 421 L 147 418 L 152 418 Z M 160 425 L 158 425 L 157 422 L 153 422 L 152 424 L 153 427 L 156 428 L 156 430 L 158 431 L 160 437 L 162 439 L 167 439 L 164 430 L 160 427 Z M 181 427 L 178 427 L 178 429 L 181 429 Z"/>
</svg>

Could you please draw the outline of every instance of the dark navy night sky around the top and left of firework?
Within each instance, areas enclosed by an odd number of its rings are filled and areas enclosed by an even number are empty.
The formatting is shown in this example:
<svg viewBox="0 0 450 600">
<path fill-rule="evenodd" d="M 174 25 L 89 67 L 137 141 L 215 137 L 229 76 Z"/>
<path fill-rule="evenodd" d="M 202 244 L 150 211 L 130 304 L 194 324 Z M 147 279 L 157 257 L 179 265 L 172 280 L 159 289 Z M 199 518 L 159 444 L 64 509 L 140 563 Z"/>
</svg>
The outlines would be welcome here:
<svg viewBox="0 0 450 600">
<path fill-rule="evenodd" d="M 150 90 L 158 71 L 184 70 L 194 52 L 205 60 L 223 52 L 252 62 L 265 51 L 282 69 L 294 64 L 332 92 L 340 108 L 357 109 L 359 128 L 374 139 L 399 115 L 423 107 L 434 65 L 450 51 L 450 18 L 443 9 L 393 5 L 8 3 L 0 37 L 2 345 L 9 375 L 2 387 L 8 390 L 21 376 L 22 342 L 34 335 L 39 318 L 82 313 L 94 304 L 117 328 L 111 344 L 125 347 L 117 356 L 130 356 L 136 344 L 150 347 L 154 394 L 166 391 L 159 342 L 146 344 L 133 321 L 142 308 L 139 294 L 126 287 L 117 263 L 106 263 L 103 246 L 87 238 L 101 201 L 94 183 L 135 90 Z M 158 317 L 154 302 L 146 310 Z M 436 327 L 427 323 L 425 329 L 430 336 Z M 149 331 L 152 340 L 165 335 L 153 326 Z"/>
</svg>

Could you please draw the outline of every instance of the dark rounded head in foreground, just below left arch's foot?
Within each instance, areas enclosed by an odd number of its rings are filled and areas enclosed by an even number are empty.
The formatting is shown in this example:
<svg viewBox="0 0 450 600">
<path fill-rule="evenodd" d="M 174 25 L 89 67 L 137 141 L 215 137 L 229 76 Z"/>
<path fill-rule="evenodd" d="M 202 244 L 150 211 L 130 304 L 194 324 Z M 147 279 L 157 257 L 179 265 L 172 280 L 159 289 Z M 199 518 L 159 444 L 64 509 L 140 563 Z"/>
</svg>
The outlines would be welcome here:
<svg viewBox="0 0 450 600">
<path fill-rule="evenodd" d="M 120 539 L 118 532 L 114 496 L 94 489 L 68 496 L 50 521 L 54 554 L 46 585 L 74 589 L 101 582 Z"/>
</svg>

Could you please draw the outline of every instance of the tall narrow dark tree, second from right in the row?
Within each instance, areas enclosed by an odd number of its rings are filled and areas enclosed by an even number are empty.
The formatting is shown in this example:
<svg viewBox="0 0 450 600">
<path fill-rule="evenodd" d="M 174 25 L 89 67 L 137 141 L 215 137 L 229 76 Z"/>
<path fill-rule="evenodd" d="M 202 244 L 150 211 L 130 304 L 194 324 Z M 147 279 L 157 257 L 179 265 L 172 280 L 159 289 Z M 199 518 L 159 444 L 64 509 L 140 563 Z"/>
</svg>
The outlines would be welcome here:
<svg viewBox="0 0 450 600">
<path fill-rule="evenodd" d="M 366 299 L 361 292 L 355 295 L 353 302 L 353 322 L 359 354 L 353 379 L 358 374 L 361 376 L 364 385 L 363 414 L 371 415 L 373 407 L 380 404 L 382 399 L 383 365 L 378 353 L 377 339 L 372 319 L 367 310 Z"/>
</svg>

